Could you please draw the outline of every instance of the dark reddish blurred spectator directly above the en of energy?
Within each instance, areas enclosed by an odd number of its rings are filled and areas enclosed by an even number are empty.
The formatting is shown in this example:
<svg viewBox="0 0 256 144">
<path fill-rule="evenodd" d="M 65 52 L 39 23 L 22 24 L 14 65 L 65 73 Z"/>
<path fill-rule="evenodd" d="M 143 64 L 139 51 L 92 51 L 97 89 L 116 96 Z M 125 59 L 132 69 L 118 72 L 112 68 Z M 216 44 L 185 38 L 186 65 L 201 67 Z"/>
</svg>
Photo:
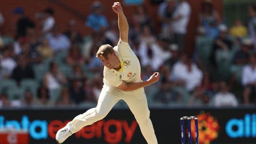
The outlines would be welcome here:
<svg viewBox="0 0 256 144">
<path fill-rule="evenodd" d="M 57 101 L 58 106 L 74 106 L 76 105 L 73 100 L 70 98 L 69 89 L 63 88 L 61 90 L 60 98 Z"/>
</svg>

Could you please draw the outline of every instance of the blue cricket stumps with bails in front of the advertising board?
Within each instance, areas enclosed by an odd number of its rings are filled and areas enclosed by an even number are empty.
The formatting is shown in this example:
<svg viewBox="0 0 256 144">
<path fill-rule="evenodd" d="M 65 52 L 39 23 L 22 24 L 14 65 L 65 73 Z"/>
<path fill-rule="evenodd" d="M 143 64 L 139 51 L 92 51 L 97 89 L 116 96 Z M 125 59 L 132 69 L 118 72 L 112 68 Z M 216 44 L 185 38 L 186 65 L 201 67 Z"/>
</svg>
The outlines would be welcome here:
<svg viewBox="0 0 256 144">
<path fill-rule="evenodd" d="M 187 120 L 187 129 L 188 129 L 188 144 L 192 144 L 192 136 L 191 136 L 191 119 L 195 120 L 195 138 L 196 143 L 199 144 L 199 133 L 198 133 L 198 118 L 195 116 L 183 116 L 180 118 L 180 130 L 181 130 L 181 143 L 185 144 L 185 130 L 184 130 L 184 120 Z"/>
</svg>

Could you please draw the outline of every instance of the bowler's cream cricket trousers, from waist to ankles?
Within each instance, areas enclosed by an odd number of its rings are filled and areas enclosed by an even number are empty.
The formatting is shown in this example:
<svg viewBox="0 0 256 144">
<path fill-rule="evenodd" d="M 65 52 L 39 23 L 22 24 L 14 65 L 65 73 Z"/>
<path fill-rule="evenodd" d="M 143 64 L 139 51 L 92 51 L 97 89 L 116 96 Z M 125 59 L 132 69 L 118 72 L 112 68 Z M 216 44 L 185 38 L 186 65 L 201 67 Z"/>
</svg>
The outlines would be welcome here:
<svg viewBox="0 0 256 144">
<path fill-rule="evenodd" d="M 143 88 L 131 92 L 124 92 L 117 88 L 110 88 L 109 86 L 104 85 L 100 93 L 97 106 L 76 116 L 71 122 L 69 122 L 72 133 L 76 133 L 84 126 L 88 126 L 98 120 L 102 120 L 109 113 L 112 107 L 121 99 L 127 103 L 134 114 L 141 129 L 141 133 L 147 140 L 147 143 L 157 144 L 158 142 L 152 122 L 149 118 L 150 112 L 148 110 L 147 98 Z"/>
</svg>

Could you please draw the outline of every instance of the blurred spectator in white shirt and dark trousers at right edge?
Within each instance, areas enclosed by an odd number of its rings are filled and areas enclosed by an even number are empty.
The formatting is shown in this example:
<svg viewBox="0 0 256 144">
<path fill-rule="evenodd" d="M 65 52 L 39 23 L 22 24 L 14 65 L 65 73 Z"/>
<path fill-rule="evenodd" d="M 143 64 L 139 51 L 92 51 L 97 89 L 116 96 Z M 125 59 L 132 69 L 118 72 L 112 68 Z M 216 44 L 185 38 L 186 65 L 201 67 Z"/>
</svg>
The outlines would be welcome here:
<svg viewBox="0 0 256 144">
<path fill-rule="evenodd" d="M 243 102 L 255 103 L 256 102 L 256 55 L 250 54 L 249 64 L 243 68 L 242 84 L 244 86 Z"/>
</svg>

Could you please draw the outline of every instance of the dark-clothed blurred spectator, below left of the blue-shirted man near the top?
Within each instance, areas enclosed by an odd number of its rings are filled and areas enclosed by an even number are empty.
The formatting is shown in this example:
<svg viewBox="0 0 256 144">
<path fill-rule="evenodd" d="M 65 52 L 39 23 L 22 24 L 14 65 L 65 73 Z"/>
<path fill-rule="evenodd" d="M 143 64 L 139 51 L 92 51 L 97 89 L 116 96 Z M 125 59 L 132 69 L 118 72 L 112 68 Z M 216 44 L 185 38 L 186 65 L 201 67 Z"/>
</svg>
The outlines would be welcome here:
<svg viewBox="0 0 256 144">
<path fill-rule="evenodd" d="M 67 35 L 72 44 L 80 44 L 83 41 L 80 32 L 77 30 L 77 22 L 74 19 L 68 21 L 68 30 L 64 34 Z"/>
</svg>

